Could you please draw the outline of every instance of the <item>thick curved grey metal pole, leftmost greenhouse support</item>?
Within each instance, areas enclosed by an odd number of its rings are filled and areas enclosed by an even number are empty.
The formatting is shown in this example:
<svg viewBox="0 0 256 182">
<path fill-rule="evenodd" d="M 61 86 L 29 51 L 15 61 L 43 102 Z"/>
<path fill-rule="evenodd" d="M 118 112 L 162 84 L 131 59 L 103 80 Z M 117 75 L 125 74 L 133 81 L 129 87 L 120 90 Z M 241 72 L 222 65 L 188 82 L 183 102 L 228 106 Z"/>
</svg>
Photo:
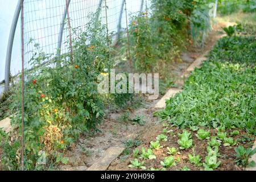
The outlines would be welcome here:
<svg viewBox="0 0 256 182">
<path fill-rule="evenodd" d="M 13 22 L 11 23 L 11 31 L 9 35 L 9 40 L 7 44 L 7 52 L 6 52 L 6 60 L 5 60 L 5 92 L 9 90 L 10 86 L 10 67 L 11 67 L 11 52 L 13 51 L 13 41 L 15 36 L 15 30 L 19 19 L 20 14 L 20 0 L 16 6 L 16 10 L 14 13 Z"/>
</svg>

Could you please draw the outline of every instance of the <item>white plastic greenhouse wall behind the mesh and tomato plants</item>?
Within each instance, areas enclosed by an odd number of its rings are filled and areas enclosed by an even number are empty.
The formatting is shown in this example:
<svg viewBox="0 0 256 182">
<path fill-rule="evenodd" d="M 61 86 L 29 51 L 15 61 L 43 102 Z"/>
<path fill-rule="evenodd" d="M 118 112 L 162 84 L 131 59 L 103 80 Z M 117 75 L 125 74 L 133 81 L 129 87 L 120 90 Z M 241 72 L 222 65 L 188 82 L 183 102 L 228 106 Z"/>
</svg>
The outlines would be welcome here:
<svg viewBox="0 0 256 182">
<path fill-rule="evenodd" d="M 20 1 L 16 0 L 9 2 L 0 0 L 0 2 L 1 7 L 10 7 L 8 9 L 2 9 L 0 15 L 0 21 L 3 25 L 0 29 L 2 39 L 0 59 L 2 60 L 3 65 L 0 68 L 0 81 L 2 83 L 0 87 L 0 93 L 2 93 L 4 90 L 3 82 L 8 81 L 8 79 L 6 79 L 7 75 L 5 75 L 5 73 L 9 75 L 9 73 L 7 73 L 9 70 L 11 76 L 15 76 L 20 73 L 21 46 L 20 20 L 18 20 L 18 17 L 20 19 Z M 80 28 L 82 31 L 86 31 L 85 25 L 89 22 L 88 15 L 96 13 L 97 9 L 101 8 L 101 12 L 99 13 L 98 18 L 102 19 L 103 24 L 107 24 L 108 22 L 108 31 L 109 33 L 114 32 L 112 39 L 115 42 L 117 33 L 123 31 L 126 28 L 126 14 L 129 16 L 132 13 L 143 11 L 147 4 L 150 4 L 148 0 L 25 0 L 25 68 L 31 69 L 31 65 L 28 62 L 31 59 L 31 53 L 36 49 L 35 44 L 30 43 L 31 41 L 38 44 L 40 51 L 46 54 L 55 54 L 58 50 L 61 53 L 68 51 L 68 47 L 64 46 L 64 43 L 68 41 L 69 36 L 67 13 L 69 14 L 71 28 Z M 19 16 L 15 18 L 15 14 Z M 9 19 L 5 19 L 3 17 L 8 17 Z M 12 22 L 13 26 L 11 26 Z M 14 40 L 9 31 L 6 30 L 15 32 Z M 11 44 L 12 41 L 13 46 Z M 11 57 L 10 68 L 4 66 L 9 61 L 8 58 L 6 58 L 6 51 L 7 55 L 9 52 L 9 57 Z M 4 60 L 6 60 L 6 63 Z"/>
</svg>

